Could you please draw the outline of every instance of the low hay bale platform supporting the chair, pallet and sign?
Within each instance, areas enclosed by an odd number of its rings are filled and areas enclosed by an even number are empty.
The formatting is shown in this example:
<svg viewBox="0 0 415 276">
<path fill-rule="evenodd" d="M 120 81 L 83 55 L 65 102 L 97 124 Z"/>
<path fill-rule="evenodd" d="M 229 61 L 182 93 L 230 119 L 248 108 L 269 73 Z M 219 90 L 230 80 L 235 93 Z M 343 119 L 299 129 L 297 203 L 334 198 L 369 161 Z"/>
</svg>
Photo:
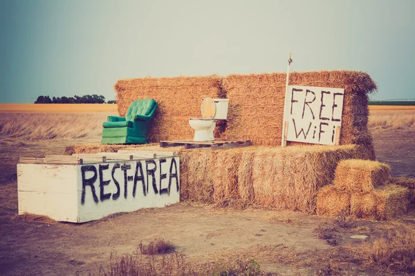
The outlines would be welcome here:
<svg viewBox="0 0 415 276">
<path fill-rule="evenodd" d="M 102 151 L 100 144 L 68 153 Z M 333 181 L 342 159 L 368 158 L 367 148 L 346 146 L 257 147 L 185 150 L 158 145 L 116 145 L 111 150 L 167 150 L 180 156 L 181 200 L 218 206 L 250 206 L 315 213 L 317 190 Z"/>
</svg>

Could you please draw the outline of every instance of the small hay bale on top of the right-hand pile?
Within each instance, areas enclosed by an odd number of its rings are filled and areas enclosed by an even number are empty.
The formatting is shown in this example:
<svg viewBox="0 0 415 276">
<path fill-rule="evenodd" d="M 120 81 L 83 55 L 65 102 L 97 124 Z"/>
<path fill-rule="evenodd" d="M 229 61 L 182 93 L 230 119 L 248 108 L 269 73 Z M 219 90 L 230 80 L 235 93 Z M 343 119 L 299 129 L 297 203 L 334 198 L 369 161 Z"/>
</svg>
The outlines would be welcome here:
<svg viewBox="0 0 415 276">
<path fill-rule="evenodd" d="M 334 185 L 349 193 L 369 193 L 389 181 L 390 167 L 378 161 L 348 159 L 335 169 Z"/>
</svg>

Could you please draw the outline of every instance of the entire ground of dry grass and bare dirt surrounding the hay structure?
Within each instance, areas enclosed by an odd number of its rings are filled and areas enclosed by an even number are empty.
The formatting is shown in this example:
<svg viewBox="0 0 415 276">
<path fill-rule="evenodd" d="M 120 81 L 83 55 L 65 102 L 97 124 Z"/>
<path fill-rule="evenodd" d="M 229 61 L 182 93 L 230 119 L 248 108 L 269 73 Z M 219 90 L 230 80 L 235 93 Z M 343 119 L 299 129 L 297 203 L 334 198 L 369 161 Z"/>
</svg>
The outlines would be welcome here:
<svg viewBox="0 0 415 276">
<path fill-rule="evenodd" d="M 70 106 L 0 105 L 1 275 L 415 275 L 414 210 L 392 221 L 363 221 L 183 202 L 85 224 L 19 217 L 19 157 L 99 142 L 102 121 L 116 114 L 116 105 L 107 111 Z M 415 177 L 415 109 L 370 110 L 378 159 L 391 165 L 392 175 Z M 176 252 L 142 255 L 140 245 L 158 239 Z"/>
</svg>

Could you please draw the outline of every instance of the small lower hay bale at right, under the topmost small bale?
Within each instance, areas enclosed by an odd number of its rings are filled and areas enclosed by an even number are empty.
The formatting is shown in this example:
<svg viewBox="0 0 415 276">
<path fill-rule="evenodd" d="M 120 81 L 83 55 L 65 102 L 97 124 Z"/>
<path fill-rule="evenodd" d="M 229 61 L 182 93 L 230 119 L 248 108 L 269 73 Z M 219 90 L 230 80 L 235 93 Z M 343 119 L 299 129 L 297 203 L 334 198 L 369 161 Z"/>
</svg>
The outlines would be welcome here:
<svg viewBox="0 0 415 276">
<path fill-rule="evenodd" d="M 363 219 L 385 220 L 407 212 L 408 189 L 387 184 L 371 193 L 353 193 L 350 199 L 350 215 Z"/>
</svg>

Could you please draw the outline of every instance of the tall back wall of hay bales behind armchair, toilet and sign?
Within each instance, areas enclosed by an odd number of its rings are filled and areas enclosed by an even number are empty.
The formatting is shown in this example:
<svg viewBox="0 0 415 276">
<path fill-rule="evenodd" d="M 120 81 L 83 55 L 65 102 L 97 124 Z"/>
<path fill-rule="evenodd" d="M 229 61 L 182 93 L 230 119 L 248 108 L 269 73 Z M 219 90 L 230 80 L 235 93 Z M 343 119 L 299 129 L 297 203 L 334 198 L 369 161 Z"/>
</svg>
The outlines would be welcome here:
<svg viewBox="0 0 415 276">
<path fill-rule="evenodd" d="M 374 150 L 367 130 L 368 94 L 376 83 L 365 72 L 336 70 L 292 72 L 290 84 L 344 88 L 340 144 L 358 144 Z M 153 98 L 158 109 L 148 139 L 192 139 L 190 117 L 201 117 L 200 103 L 204 97 L 228 98 L 228 119 L 216 123 L 215 137 L 246 139 L 254 146 L 279 146 L 284 117 L 285 73 L 229 75 L 227 77 L 165 77 L 120 79 L 114 86 L 118 112 L 124 116 L 131 102 Z M 291 145 L 304 143 L 288 142 Z"/>
</svg>

